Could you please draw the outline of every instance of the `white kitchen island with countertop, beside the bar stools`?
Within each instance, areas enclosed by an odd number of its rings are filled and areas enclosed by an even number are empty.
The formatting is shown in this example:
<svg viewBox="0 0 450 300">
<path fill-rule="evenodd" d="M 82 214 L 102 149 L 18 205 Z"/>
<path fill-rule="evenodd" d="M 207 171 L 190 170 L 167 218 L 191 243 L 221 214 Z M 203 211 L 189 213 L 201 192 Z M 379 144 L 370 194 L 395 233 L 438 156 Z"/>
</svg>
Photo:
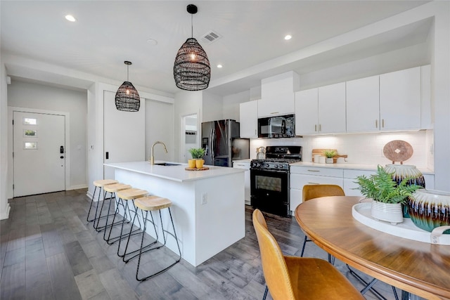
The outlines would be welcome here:
<svg viewBox="0 0 450 300">
<path fill-rule="evenodd" d="M 181 256 L 193 266 L 245 236 L 245 170 L 205 166 L 210 169 L 186 171 L 186 164 L 162 166 L 150 162 L 120 162 L 105 166 L 115 169 L 117 181 L 172 201 Z M 155 222 L 160 230 L 159 218 L 155 218 Z M 165 228 L 171 228 L 167 209 L 162 211 L 162 222 Z M 147 228 L 147 233 L 155 237 L 153 226 Z M 162 233 L 158 235 L 162 240 Z M 177 252 L 171 236 L 167 247 Z"/>
</svg>

